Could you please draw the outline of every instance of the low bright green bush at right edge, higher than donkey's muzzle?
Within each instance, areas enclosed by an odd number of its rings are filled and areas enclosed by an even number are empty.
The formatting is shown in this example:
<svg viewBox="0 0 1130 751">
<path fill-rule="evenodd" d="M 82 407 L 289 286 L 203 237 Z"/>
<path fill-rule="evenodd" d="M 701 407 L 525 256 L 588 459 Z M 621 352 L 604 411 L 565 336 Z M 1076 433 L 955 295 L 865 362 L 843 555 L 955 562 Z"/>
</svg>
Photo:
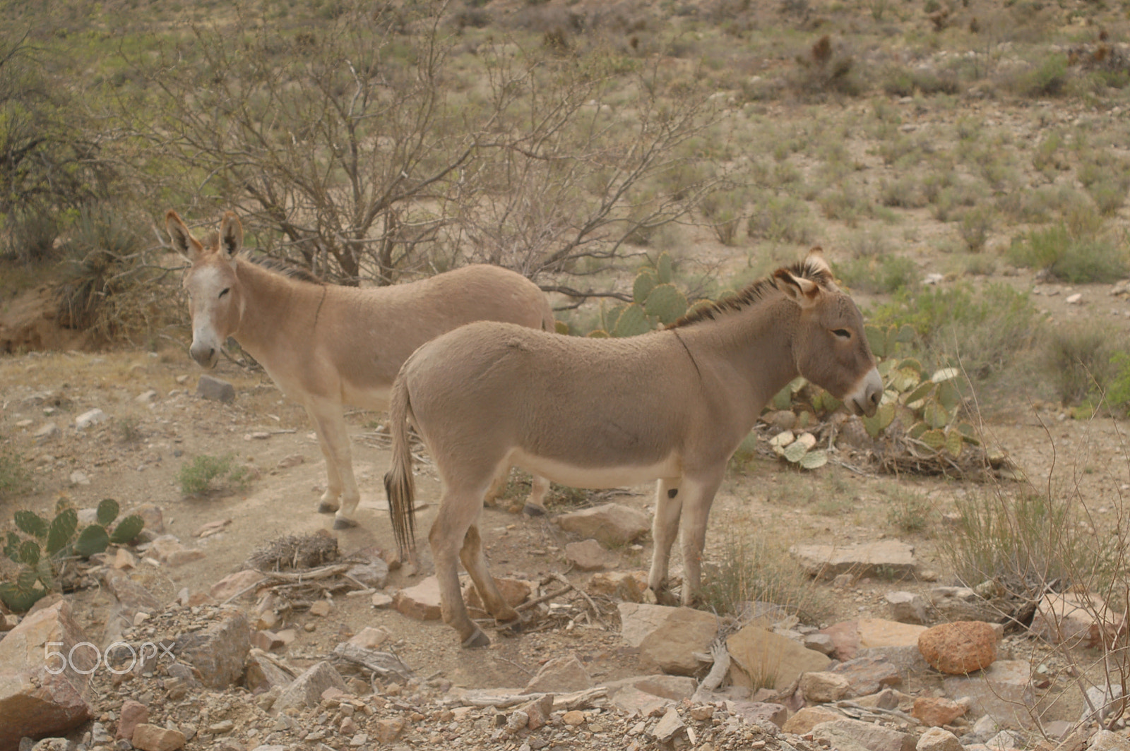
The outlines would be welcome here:
<svg viewBox="0 0 1130 751">
<path fill-rule="evenodd" d="M 1038 269 L 1071 283 L 1118 281 L 1128 269 L 1118 244 L 1102 235 L 1071 232 L 1064 224 L 1014 238 L 1007 255 L 1014 265 Z"/>
</svg>

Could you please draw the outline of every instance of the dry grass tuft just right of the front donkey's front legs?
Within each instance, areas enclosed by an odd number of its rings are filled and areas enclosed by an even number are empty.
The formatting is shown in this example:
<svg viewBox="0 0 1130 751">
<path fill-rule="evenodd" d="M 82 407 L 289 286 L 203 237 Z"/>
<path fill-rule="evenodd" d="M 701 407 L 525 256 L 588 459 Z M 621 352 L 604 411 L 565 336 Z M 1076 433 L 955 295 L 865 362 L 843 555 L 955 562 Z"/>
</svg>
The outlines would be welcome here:
<svg viewBox="0 0 1130 751">
<path fill-rule="evenodd" d="M 819 622 L 828 610 L 823 593 L 780 540 L 750 526 L 728 525 L 721 550 L 703 567 L 704 609 L 719 615 L 740 614 L 748 603 L 772 603 L 801 621 Z"/>
</svg>

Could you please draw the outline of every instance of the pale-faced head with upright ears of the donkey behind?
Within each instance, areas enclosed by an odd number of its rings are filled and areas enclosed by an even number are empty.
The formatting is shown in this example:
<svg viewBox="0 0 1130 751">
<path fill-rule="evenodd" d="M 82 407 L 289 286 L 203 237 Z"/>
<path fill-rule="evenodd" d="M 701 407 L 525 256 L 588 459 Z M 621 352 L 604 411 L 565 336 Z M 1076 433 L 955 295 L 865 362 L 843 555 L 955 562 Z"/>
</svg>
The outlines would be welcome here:
<svg viewBox="0 0 1130 751">
<path fill-rule="evenodd" d="M 165 215 L 165 228 L 173 238 L 173 247 L 192 262 L 184 274 L 184 289 L 189 292 L 189 313 L 192 315 L 192 359 L 206 368 L 216 365 L 220 348 L 240 325 L 243 299 L 240 280 L 235 273 L 235 256 L 243 245 L 243 225 L 228 211 L 212 234 L 208 245 L 193 237 L 176 211 Z"/>
</svg>

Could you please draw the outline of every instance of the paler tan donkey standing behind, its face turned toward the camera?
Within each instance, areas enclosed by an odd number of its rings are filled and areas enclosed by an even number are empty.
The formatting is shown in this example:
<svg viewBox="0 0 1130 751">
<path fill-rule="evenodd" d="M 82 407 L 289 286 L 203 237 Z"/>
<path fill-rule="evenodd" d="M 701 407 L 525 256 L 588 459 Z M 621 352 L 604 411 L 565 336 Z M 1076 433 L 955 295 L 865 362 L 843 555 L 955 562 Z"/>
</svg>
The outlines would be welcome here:
<svg viewBox="0 0 1130 751">
<path fill-rule="evenodd" d="M 498 267 L 470 265 L 394 287 L 339 287 L 241 256 L 243 227 L 231 211 L 208 246 L 175 211 L 165 216 L 165 226 L 192 262 L 184 277 L 192 359 L 215 366 L 233 337 L 287 398 L 302 402 L 329 479 L 318 510 L 337 512 L 337 529 L 356 525 L 359 499 L 344 403 L 386 409 L 392 381 L 408 356 L 464 323 L 505 321 L 554 331 L 553 309 L 538 286 Z M 539 504 L 548 486 L 536 478 L 531 501 Z"/>
</svg>

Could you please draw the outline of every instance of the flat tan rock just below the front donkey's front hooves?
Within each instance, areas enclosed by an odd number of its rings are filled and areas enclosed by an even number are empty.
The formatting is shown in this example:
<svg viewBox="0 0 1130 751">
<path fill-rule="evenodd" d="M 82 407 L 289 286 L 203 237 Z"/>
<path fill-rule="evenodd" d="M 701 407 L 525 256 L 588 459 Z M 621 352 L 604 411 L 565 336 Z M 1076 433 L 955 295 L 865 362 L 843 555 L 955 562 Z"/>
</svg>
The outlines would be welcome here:
<svg viewBox="0 0 1130 751">
<path fill-rule="evenodd" d="M 693 608 L 633 602 L 618 608 L 620 636 L 629 647 L 640 649 L 641 665 L 647 671 L 693 675 L 702 665 L 694 653 L 709 653 L 718 634 L 714 615 Z"/>
</svg>

